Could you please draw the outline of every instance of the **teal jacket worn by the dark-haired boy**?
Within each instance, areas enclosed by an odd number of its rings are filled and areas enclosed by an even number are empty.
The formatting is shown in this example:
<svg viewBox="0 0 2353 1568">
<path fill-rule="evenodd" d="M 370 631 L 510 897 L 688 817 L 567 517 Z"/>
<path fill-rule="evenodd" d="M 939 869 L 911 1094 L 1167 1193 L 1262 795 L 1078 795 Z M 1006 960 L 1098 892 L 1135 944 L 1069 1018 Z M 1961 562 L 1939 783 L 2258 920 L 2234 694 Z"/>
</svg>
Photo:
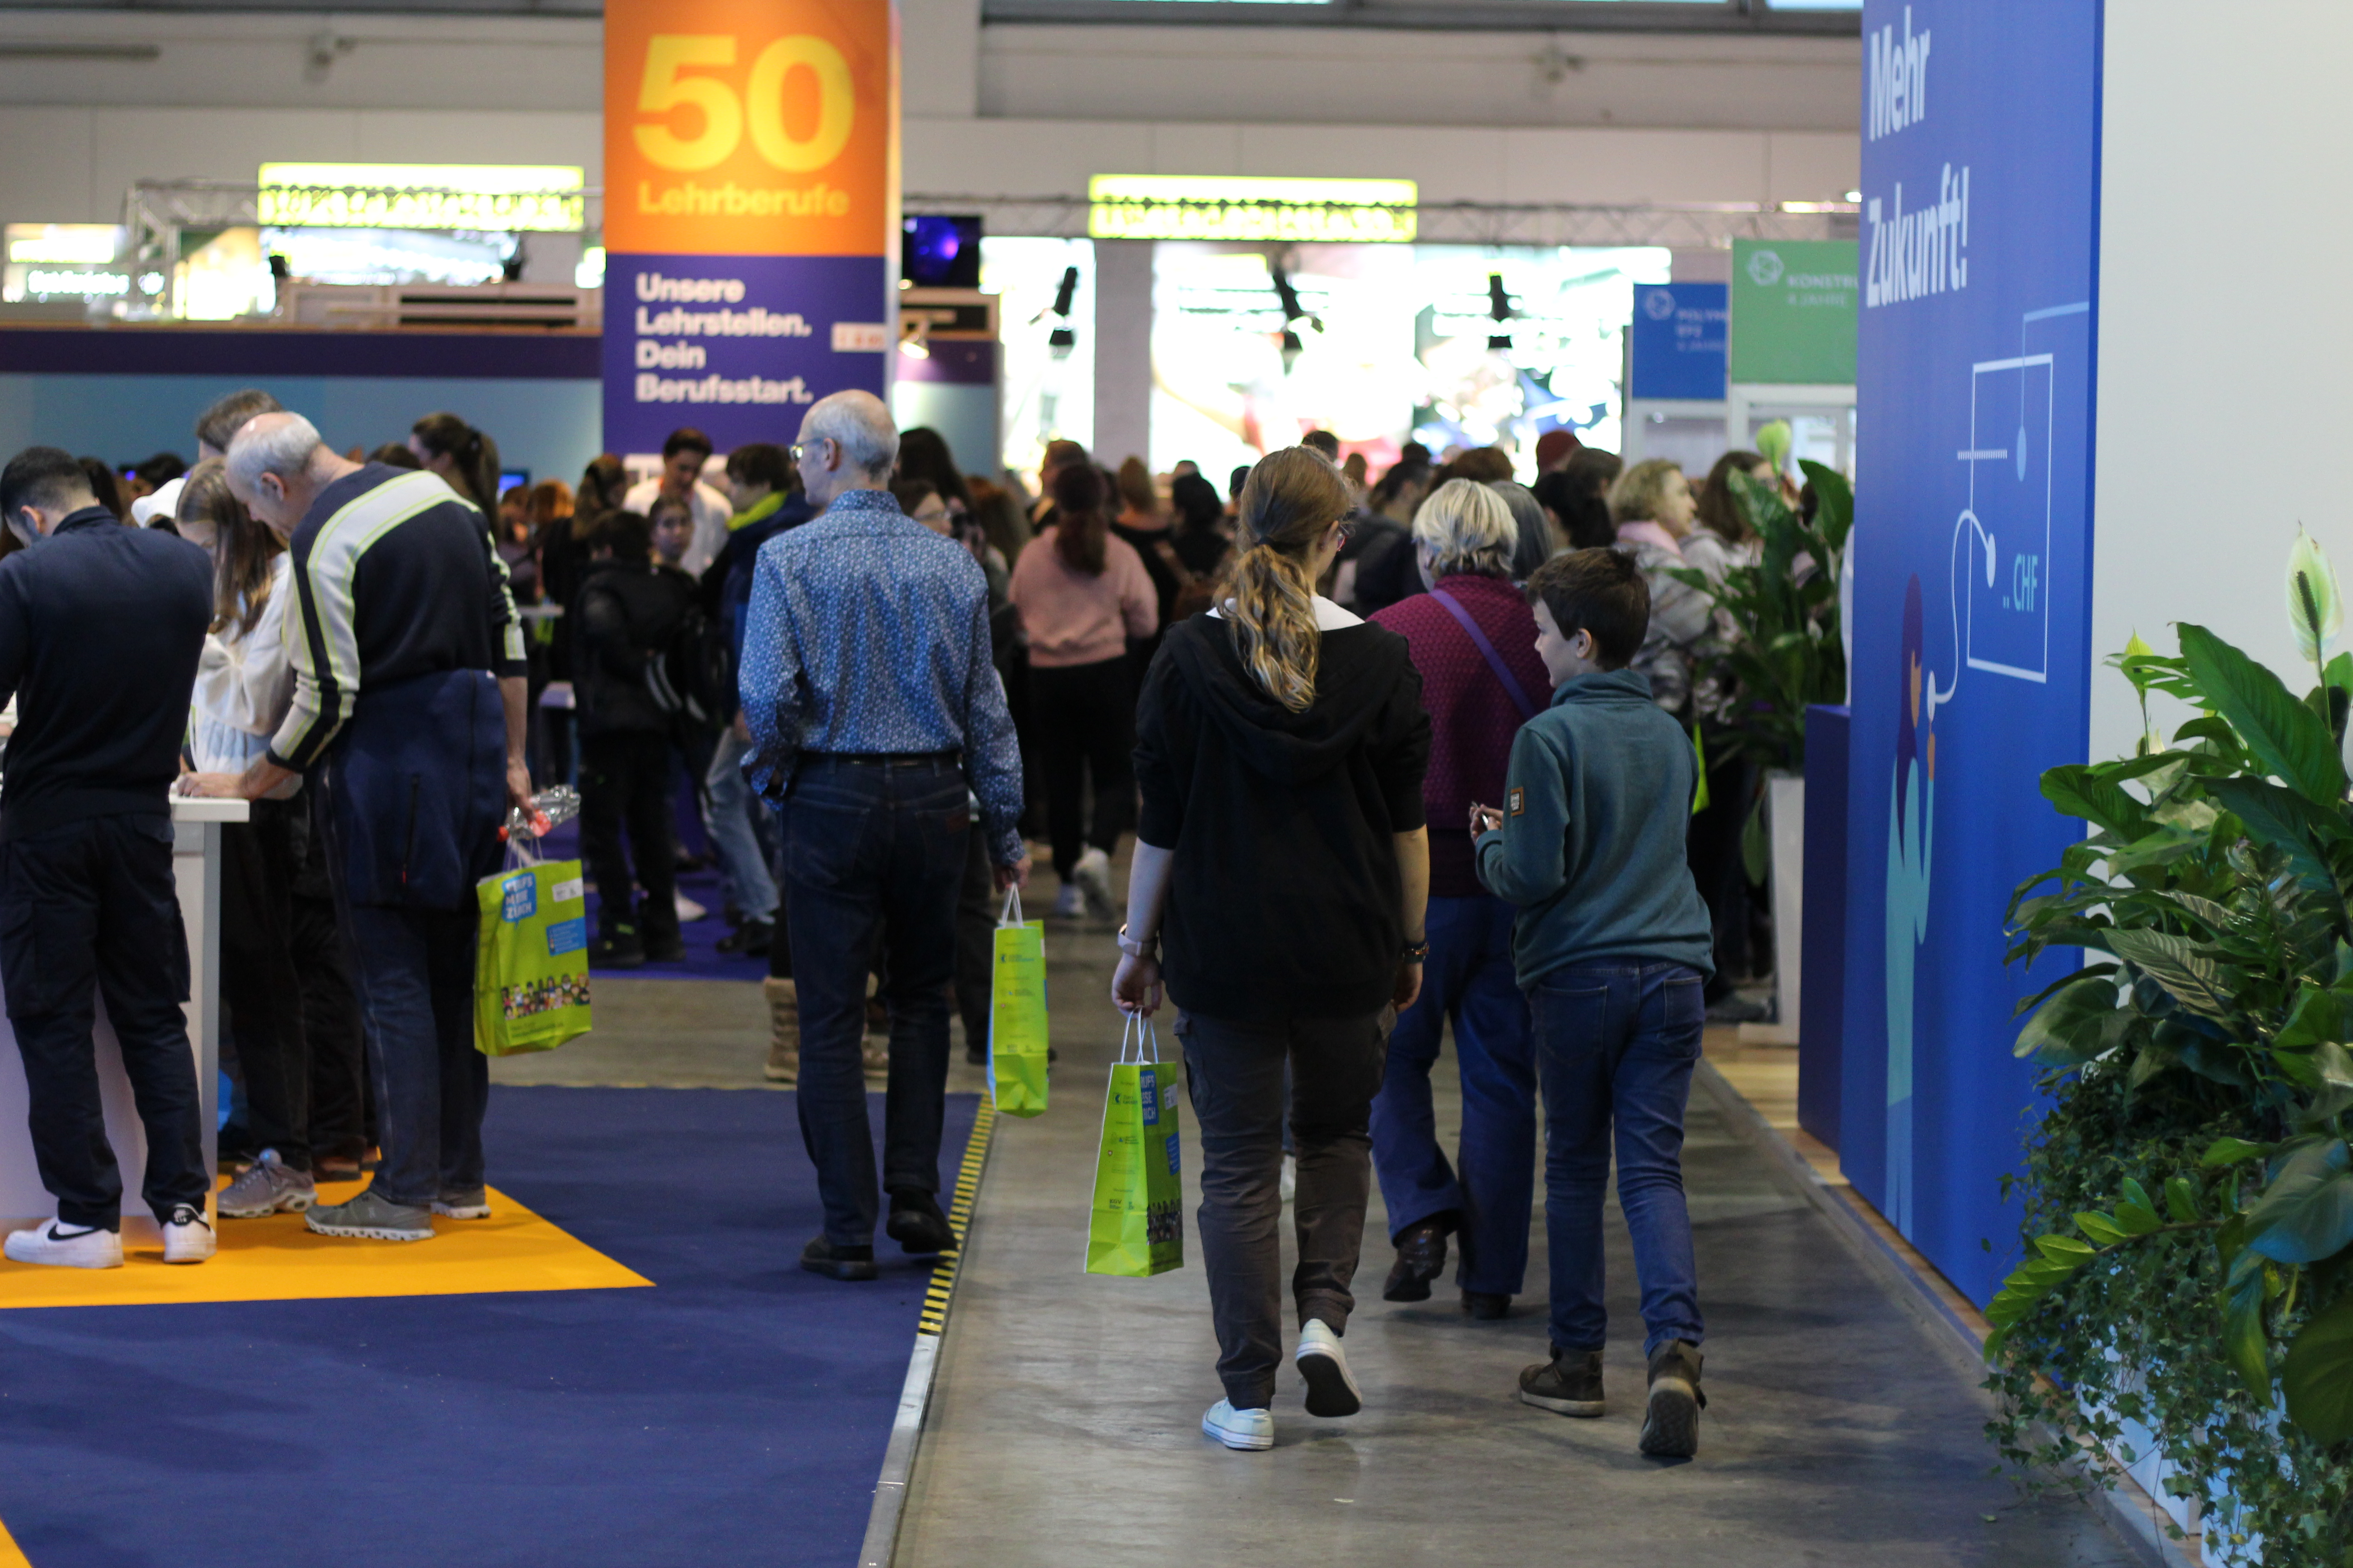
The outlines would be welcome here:
<svg viewBox="0 0 2353 1568">
<path fill-rule="evenodd" d="M 1708 905 L 1685 858 L 1699 762 L 1649 677 L 1562 682 L 1511 743 L 1504 825 L 1478 839 L 1478 879 L 1518 905 L 1520 985 L 1600 959 L 1715 973 Z"/>
</svg>

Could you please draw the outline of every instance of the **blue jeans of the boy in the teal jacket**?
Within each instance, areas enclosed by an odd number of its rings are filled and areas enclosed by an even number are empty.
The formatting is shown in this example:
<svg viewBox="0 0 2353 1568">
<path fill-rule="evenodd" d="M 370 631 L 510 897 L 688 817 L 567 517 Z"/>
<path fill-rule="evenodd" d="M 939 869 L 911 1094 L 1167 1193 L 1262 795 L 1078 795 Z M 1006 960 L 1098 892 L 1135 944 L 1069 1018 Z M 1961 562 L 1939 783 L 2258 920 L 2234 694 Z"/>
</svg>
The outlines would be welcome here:
<svg viewBox="0 0 2353 1568">
<path fill-rule="evenodd" d="M 1553 1253 L 1553 1345 L 1600 1349 L 1602 1190 L 1617 1126 L 1619 1208 L 1642 1281 L 1642 1354 L 1699 1345 L 1699 1267 L 1682 1204 L 1682 1107 L 1692 1095 L 1701 978 L 1687 964 L 1567 964 L 1527 1001 L 1544 1079 L 1544 1234 Z"/>
</svg>

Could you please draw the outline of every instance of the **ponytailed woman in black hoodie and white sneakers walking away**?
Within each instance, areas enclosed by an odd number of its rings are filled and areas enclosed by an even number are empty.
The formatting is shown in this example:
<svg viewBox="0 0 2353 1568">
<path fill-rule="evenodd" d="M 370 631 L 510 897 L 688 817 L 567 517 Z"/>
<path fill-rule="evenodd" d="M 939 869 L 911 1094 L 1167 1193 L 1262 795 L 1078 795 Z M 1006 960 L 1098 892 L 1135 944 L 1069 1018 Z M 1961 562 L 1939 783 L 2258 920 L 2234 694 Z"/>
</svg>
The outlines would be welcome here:
<svg viewBox="0 0 2353 1568">
<path fill-rule="evenodd" d="M 1226 1396 L 1202 1432 L 1271 1448 L 1282 1359 L 1282 1114 L 1299 1150 L 1294 1363 L 1308 1415 L 1362 1399 L 1341 1354 L 1372 1185 L 1367 1121 L 1391 1009 L 1421 992 L 1431 722 L 1395 632 L 1313 583 L 1353 505 L 1301 447 L 1242 487 L 1217 611 L 1169 630 L 1136 715 L 1144 823 L 1113 1001 L 1176 1001 L 1200 1119 L 1200 1251 Z"/>
</svg>

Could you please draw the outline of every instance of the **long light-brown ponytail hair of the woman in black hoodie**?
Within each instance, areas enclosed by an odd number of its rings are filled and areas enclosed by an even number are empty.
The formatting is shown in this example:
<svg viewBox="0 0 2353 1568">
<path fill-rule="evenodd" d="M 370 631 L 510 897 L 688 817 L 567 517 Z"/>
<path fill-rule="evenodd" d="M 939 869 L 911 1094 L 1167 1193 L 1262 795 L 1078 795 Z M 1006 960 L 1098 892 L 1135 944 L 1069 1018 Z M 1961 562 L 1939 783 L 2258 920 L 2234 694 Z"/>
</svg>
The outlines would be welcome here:
<svg viewBox="0 0 2353 1568">
<path fill-rule="evenodd" d="M 1242 484 L 1228 614 L 1249 677 L 1292 712 L 1315 703 L 1322 646 L 1308 557 L 1353 501 L 1329 458 L 1306 447 L 1268 451 Z"/>
</svg>

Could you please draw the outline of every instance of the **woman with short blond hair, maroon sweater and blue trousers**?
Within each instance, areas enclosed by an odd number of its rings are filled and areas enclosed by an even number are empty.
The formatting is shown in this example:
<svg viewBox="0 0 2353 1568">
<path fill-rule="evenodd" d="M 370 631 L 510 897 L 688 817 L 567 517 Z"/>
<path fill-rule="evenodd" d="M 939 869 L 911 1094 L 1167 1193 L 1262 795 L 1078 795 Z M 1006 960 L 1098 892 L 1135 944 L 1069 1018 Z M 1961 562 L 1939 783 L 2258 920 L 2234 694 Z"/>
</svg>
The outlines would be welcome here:
<svg viewBox="0 0 2353 1568">
<path fill-rule="evenodd" d="M 1398 1246 L 1381 1300 L 1428 1300 L 1447 1265 L 1447 1234 L 1457 1234 L 1457 1281 L 1475 1319 L 1504 1316 L 1520 1293 L 1537 1171 L 1537 1046 L 1511 973 L 1511 905 L 1480 886 L 1466 825 L 1471 802 L 1504 799 L 1511 741 L 1553 689 L 1537 658 L 1537 616 L 1511 585 L 1515 538 L 1499 484 L 1442 484 L 1414 512 L 1431 592 L 1374 616 L 1412 646 L 1431 715 L 1421 783 L 1431 964 L 1421 1001 L 1388 1037 L 1388 1072 L 1372 1103 L 1372 1164 Z M 1431 1067 L 1449 1020 L 1464 1088 L 1457 1164 L 1438 1147 L 1431 1112 Z"/>
</svg>

